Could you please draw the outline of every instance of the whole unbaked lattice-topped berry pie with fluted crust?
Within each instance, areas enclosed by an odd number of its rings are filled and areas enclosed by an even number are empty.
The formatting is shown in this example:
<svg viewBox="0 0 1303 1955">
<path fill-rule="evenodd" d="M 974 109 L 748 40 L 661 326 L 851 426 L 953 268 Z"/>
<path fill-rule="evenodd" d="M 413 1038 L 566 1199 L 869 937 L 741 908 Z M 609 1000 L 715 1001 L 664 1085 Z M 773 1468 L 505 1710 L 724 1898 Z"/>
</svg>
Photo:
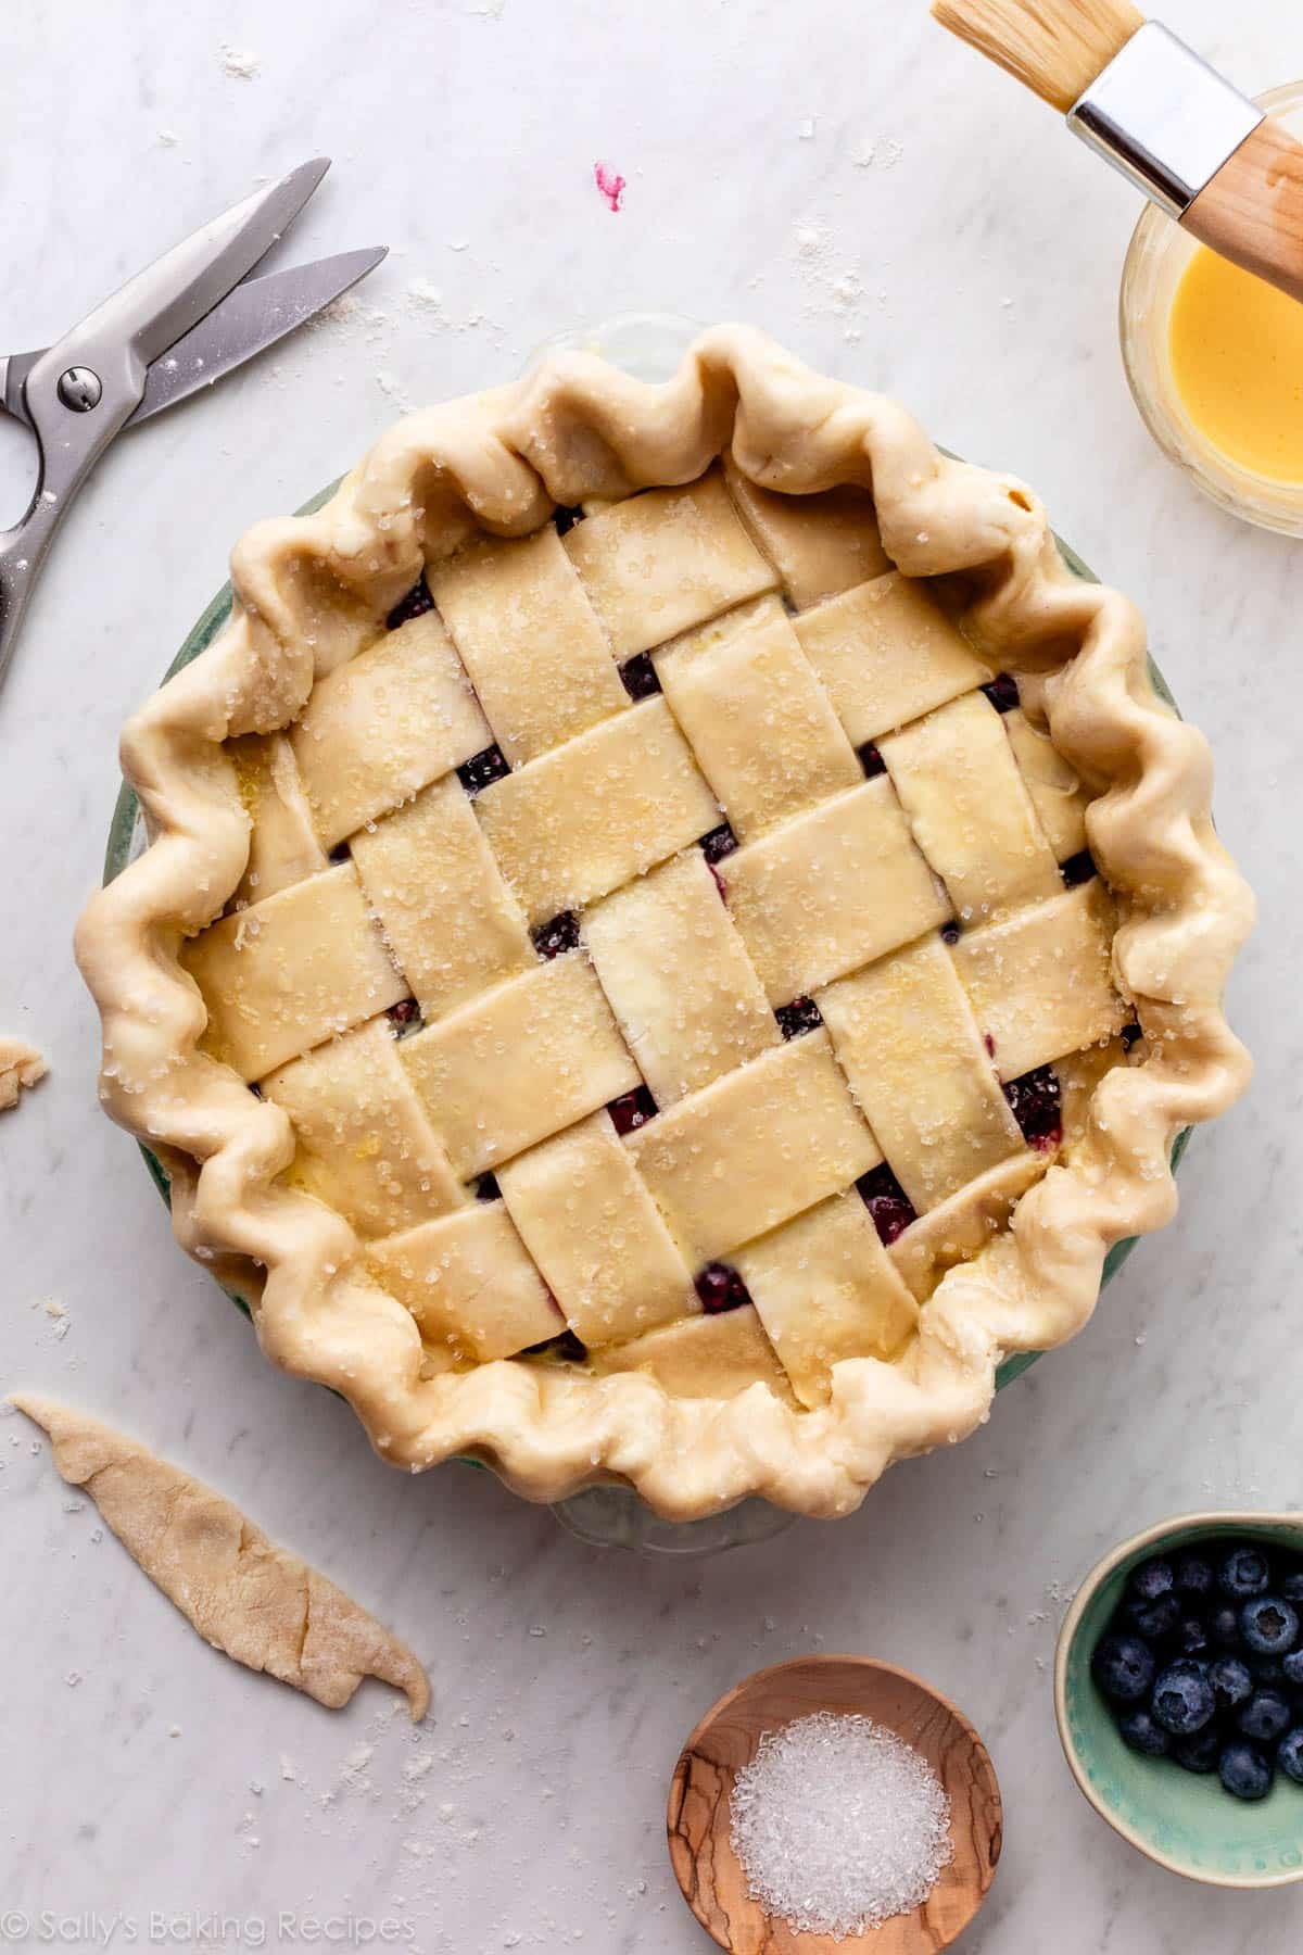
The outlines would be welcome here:
<svg viewBox="0 0 1303 1955">
<path fill-rule="evenodd" d="M 400 422 L 232 579 L 123 743 L 104 1097 L 385 1456 L 846 1511 L 1168 1218 L 1248 895 L 1018 483 L 719 328 Z"/>
</svg>

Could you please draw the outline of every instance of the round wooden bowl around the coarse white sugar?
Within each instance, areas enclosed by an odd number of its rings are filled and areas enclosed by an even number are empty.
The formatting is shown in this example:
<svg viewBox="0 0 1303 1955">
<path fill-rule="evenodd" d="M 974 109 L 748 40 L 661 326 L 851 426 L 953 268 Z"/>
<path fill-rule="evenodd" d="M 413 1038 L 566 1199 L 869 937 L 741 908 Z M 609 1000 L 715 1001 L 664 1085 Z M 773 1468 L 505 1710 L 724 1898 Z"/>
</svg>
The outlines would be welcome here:
<svg viewBox="0 0 1303 1955">
<path fill-rule="evenodd" d="M 731 1826 L 733 1779 L 760 1736 L 815 1711 L 871 1716 L 920 1752 L 949 1795 L 953 1859 L 912 1914 L 863 1935 L 797 1933 L 750 1898 Z M 922 1677 L 867 1656 L 803 1656 L 758 1670 L 721 1697 L 684 1746 L 666 1816 L 684 1900 L 731 1955 L 936 1955 L 969 1926 L 1004 1840 L 1000 1787 L 987 1746 Z"/>
</svg>

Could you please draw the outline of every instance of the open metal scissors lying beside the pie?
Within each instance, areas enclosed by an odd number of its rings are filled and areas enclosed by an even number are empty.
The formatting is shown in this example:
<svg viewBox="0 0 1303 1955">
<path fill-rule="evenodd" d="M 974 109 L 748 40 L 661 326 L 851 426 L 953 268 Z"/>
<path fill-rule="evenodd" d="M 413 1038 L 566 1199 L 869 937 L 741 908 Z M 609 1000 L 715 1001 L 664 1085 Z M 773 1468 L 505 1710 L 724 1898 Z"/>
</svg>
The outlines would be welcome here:
<svg viewBox="0 0 1303 1955">
<path fill-rule="evenodd" d="M 55 532 L 113 436 L 273 346 L 385 256 L 379 244 L 246 276 L 328 168 L 328 156 L 301 162 L 182 239 L 55 346 L 0 358 L 0 409 L 31 428 L 39 454 L 27 512 L 0 530 L 0 676 Z"/>
</svg>

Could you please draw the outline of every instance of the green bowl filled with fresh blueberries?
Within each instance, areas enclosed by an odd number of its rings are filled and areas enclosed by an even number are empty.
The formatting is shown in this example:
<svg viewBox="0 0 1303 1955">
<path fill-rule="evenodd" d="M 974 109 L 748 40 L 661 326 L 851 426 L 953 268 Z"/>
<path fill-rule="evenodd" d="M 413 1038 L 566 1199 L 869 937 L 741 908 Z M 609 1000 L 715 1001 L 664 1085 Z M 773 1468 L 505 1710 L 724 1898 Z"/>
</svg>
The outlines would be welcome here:
<svg viewBox="0 0 1303 1955">
<path fill-rule="evenodd" d="M 1217 1887 L 1303 1879 L 1303 1515 L 1190 1513 L 1106 1554 L 1059 1632 L 1072 1777 Z"/>
</svg>

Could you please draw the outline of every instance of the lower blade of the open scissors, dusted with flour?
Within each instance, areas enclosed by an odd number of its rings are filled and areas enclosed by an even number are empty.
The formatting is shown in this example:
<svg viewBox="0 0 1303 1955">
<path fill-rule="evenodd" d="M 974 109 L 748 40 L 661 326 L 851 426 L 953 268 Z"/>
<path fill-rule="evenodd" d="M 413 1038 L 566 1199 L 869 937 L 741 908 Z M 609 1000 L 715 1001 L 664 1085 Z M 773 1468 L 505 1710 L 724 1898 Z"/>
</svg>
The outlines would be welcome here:
<svg viewBox="0 0 1303 1955">
<path fill-rule="evenodd" d="M 387 252 L 387 244 L 346 250 L 336 258 L 318 258 L 315 264 L 244 280 L 154 362 L 145 381 L 145 397 L 127 426 L 174 407 L 197 387 L 211 387 L 254 354 L 275 346 L 313 313 L 320 313 L 365 278 Z"/>
</svg>

